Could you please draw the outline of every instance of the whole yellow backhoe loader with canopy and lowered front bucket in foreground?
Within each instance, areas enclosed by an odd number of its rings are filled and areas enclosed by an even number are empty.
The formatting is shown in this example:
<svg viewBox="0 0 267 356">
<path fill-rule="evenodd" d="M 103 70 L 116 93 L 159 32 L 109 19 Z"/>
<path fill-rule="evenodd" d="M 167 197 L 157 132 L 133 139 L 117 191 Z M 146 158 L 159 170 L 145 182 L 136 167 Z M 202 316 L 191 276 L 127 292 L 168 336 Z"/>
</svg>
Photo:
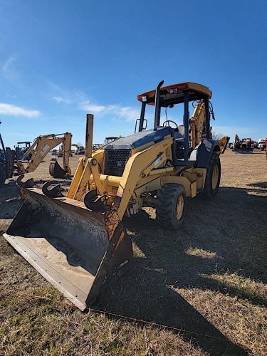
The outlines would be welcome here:
<svg viewBox="0 0 267 356">
<path fill-rule="evenodd" d="M 162 84 L 137 96 L 138 132 L 93 152 L 93 115 L 87 115 L 85 157 L 66 196 L 53 182 L 42 190 L 19 186 L 23 204 L 4 237 L 80 310 L 133 262 L 124 216 L 155 206 L 159 225 L 175 230 L 188 198 L 218 193 L 223 147 L 211 139 L 211 90 Z M 181 125 L 167 117 L 175 105 L 183 108 Z M 153 107 L 147 130 L 146 108 Z"/>
</svg>

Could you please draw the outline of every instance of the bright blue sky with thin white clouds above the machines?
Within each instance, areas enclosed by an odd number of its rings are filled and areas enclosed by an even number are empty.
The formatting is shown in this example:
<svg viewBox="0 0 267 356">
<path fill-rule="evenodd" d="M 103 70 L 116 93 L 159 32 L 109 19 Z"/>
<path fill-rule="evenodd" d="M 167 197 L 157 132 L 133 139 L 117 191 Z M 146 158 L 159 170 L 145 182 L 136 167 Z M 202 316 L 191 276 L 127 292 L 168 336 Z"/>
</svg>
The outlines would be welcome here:
<svg viewBox="0 0 267 356">
<path fill-rule="evenodd" d="M 266 19 L 266 0 L 0 0 L 4 143 L 84 144 L 86 113 L 94 143 L 131 135 L 137 95 L 161 80 L 208 86 L 213 130 L 231 141 L 267 137 Z"/>
</svg>

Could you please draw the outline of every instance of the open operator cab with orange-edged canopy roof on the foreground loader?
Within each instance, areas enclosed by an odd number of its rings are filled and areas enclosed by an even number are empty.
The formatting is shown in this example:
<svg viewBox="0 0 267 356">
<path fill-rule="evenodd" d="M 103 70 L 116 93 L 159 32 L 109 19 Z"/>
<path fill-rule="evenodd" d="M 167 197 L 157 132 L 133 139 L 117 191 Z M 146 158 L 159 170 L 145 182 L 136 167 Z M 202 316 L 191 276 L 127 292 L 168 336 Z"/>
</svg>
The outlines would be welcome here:
<svg viewBox="0 0 267 356">
<path fill-rule="evenodd" d="M 190 155 L 196 147 L 190 130 L 189 102 L 194 103 L 201 100 L 204 102 L 206 122 L 203 137 L 210 139 L 211 130 L 209 122 L 210 114 L 213 115 L 213 112 L 209 110 L 209 99 L 211 98 L 212 92 L 206 86 L 198 83 L 186 82 L 164 87 L 162 87 L 162 84 L 163 81 L 157 85 L 156 89 L 137 95 L 137 100 L 142 103 L 140 119 L 137 120 L 139 122 L 138 131 L 140 132 L 146 129 L 147 119 L 145 118 L 145 112 L 148 108 L 147 105 L 153 106 L 155 110 L 153 130 L 157 131 L 160 127 L 172 128 L 171 135 L 175 140 L 173 153 L 174 157 L 177 157 L 177 162 L 174 162 L 174 165 L 188 164 L 189 161 L 194 159 L 194 155 L 192 155 L 192 159 L 190 159 Z M 173 110 L 173 108 L 175 108 L 174 111 L 179 110 L 179 116 L 173 115 L 172 111 L 169 111 L 169 109 Z M 165 120 L 161 124 L 163 110 L 165 112 Z M 178 125 L 173 117 L 183 117 L 182 125 Z"/>
</svg>

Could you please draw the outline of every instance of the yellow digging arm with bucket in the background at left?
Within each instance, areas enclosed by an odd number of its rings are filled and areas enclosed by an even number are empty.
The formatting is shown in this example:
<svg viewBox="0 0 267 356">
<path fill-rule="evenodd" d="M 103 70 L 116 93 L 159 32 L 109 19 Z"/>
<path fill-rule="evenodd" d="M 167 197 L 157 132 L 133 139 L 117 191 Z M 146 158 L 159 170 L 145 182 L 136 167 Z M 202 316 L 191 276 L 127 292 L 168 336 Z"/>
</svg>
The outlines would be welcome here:
<svg viewBox="0 0 267 356">
<path fill-rule="evenodd" d="M 52 177 L 63 178 L 65 175 L 71 174 L 68 167 L 71 146 L 71 134 L 69 132 L 63 134 L 50 134 L 38 136 L 31 147 L 23 154 L 22 159 L 16 159 L 14 162 L 14 175 L 25 174 L 35 171 L 43 158 L 53 150 L 54 147 L 62 144 L 63 152 L 63 168 L 58 164 L 56 157 L 51 159 L 49 172 Z"/>
</svg>

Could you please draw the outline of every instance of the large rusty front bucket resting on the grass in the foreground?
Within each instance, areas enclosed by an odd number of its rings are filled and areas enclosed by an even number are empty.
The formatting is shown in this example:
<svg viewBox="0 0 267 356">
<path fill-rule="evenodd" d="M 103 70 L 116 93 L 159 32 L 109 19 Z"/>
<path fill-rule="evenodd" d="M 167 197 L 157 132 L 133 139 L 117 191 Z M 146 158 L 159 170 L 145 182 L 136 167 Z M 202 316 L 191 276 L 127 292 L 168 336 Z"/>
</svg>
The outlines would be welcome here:
<svg viewBox="0 0 267 356">
<path fill-rule="evenodd" d="M 80 310 L 132 264 L 132 242 L 115 210 L 19 187 L 23 204 L 4 238 Z"/>
</svg>

